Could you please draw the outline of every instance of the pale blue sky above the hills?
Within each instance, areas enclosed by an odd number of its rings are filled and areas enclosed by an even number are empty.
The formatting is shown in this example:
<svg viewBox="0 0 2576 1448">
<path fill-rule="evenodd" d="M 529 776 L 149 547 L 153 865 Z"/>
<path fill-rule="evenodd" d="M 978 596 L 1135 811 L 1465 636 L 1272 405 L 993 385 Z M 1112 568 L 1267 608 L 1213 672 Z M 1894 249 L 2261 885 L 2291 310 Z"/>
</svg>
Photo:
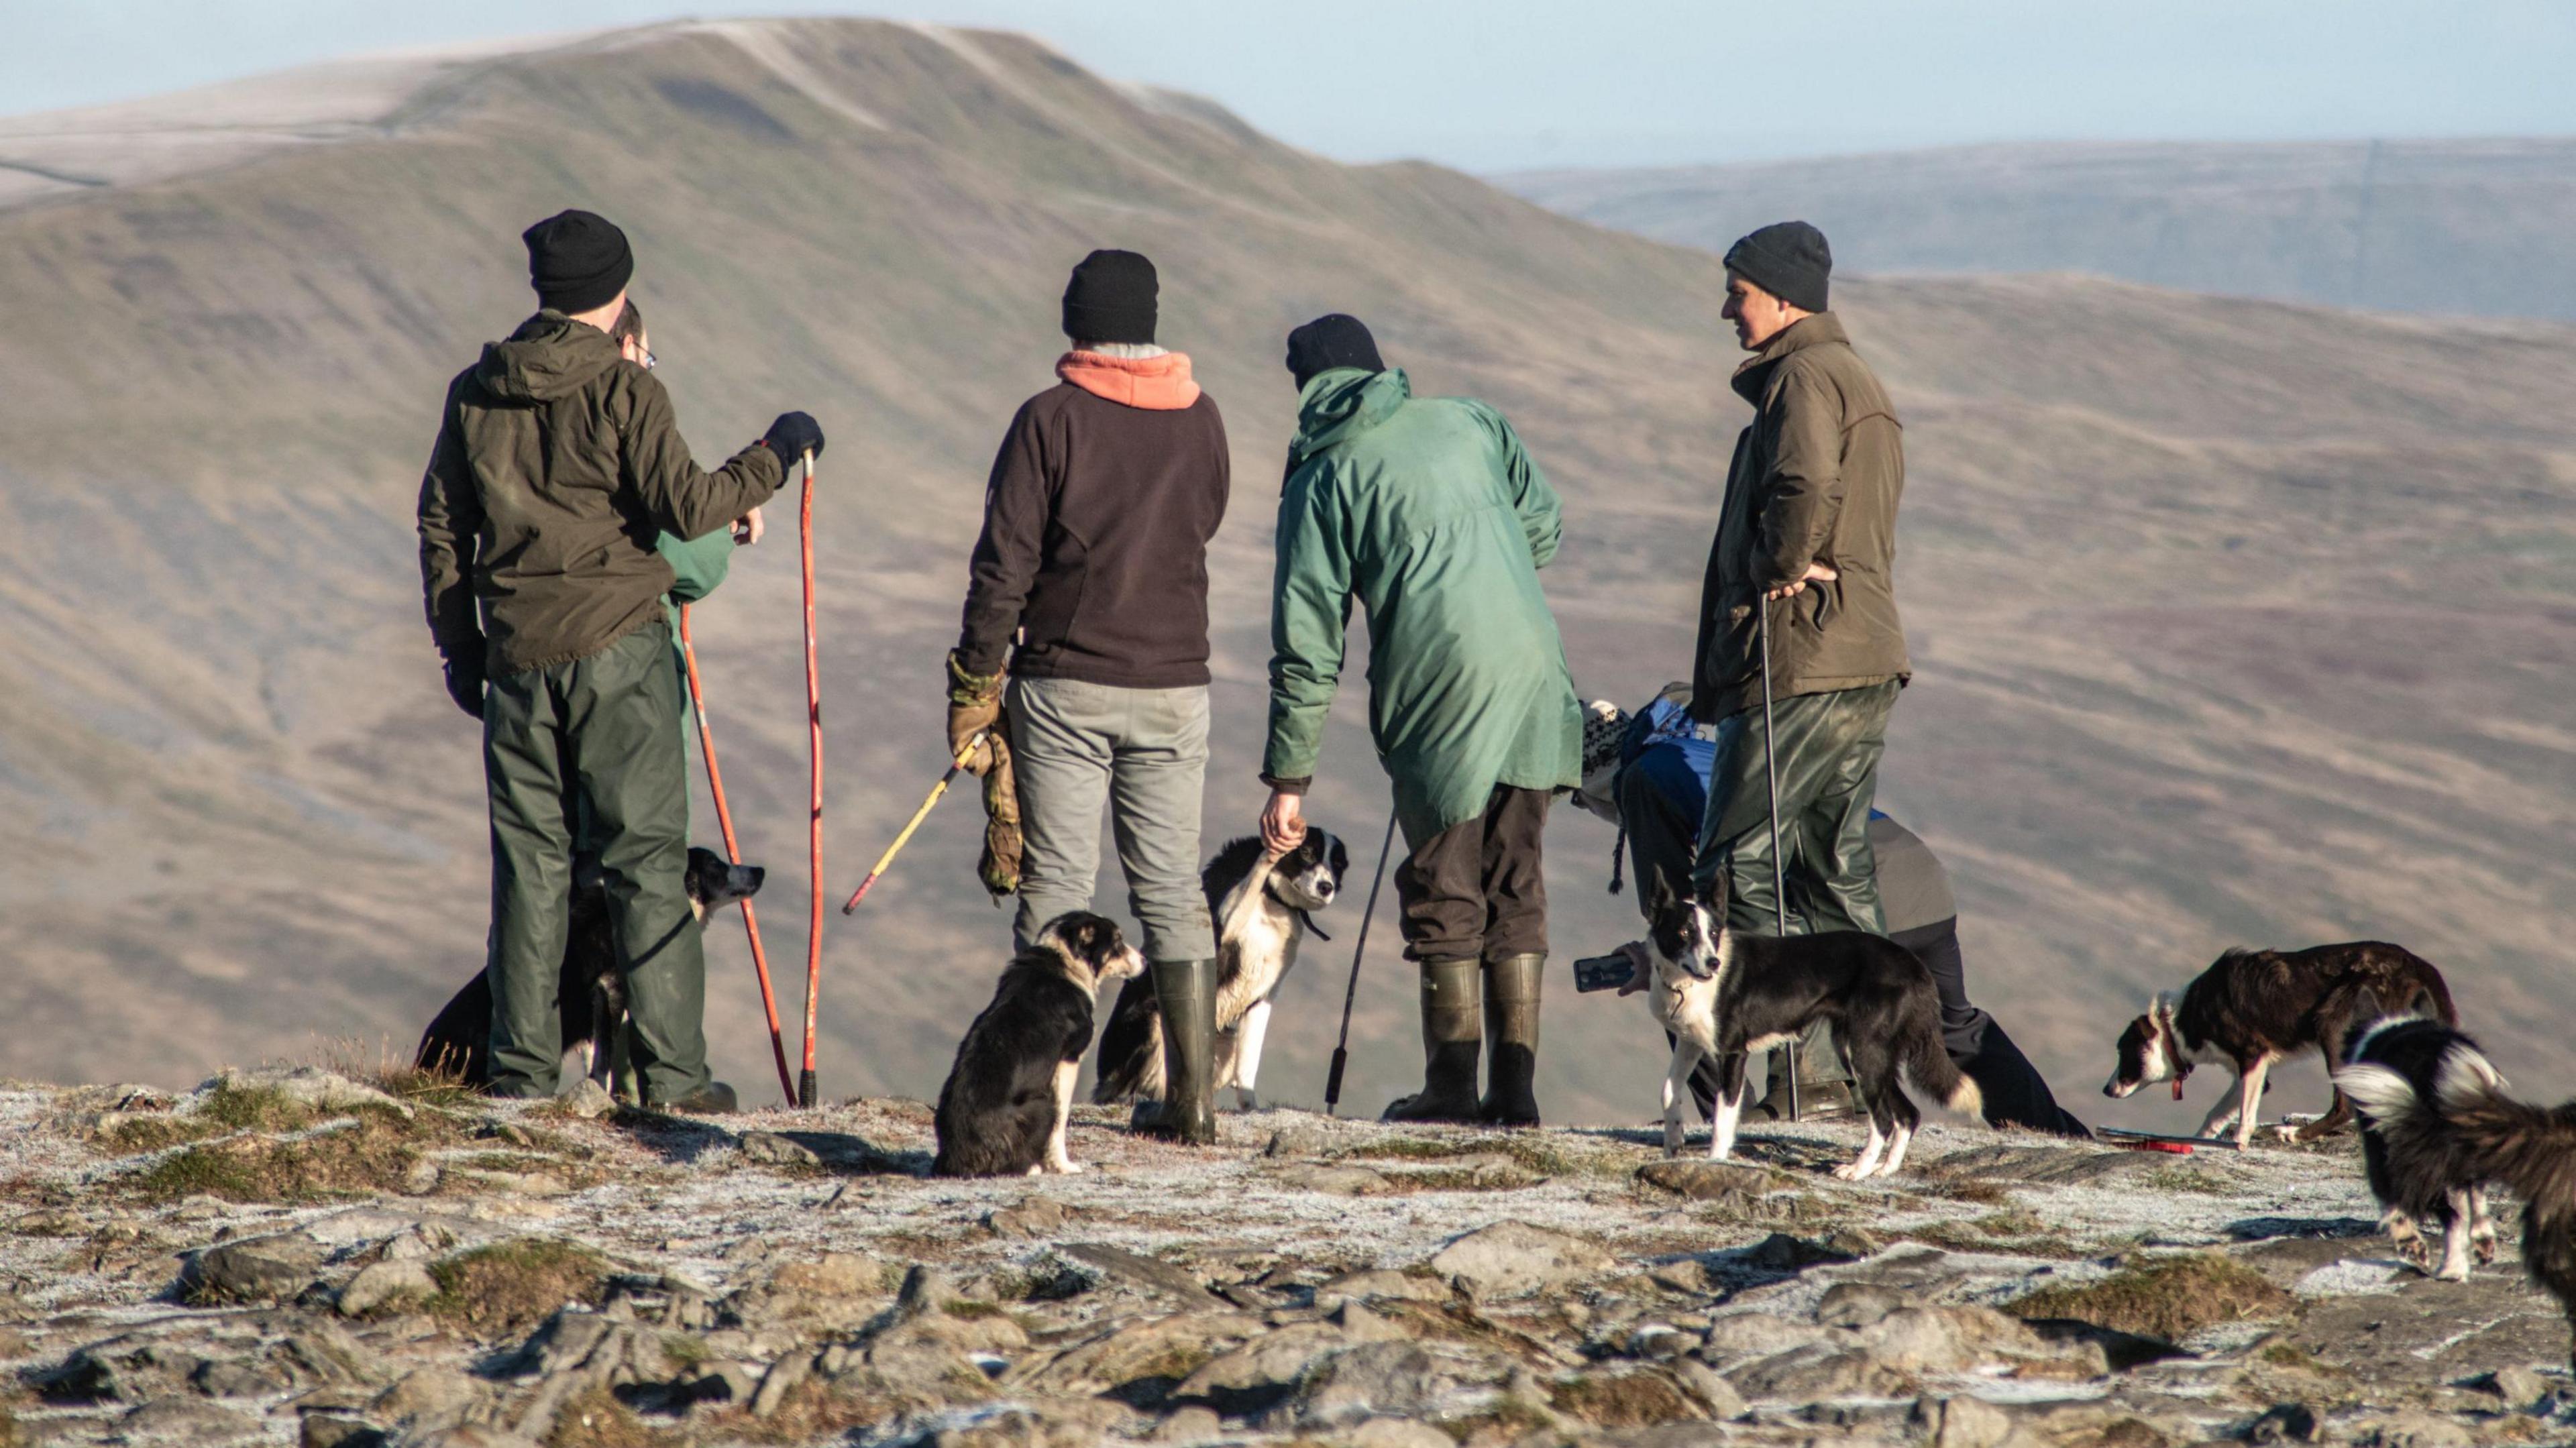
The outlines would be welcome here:
<svg viewBox="0 0 2576 1448">
<path fill-rule="evenodd" d="M 2576 134 L 2568 0 L 899 0 L 1342 157 L 1672 165 L 1991 139 Z M 0 113 L 778 0 L 0 0 Z"/>
</svg>

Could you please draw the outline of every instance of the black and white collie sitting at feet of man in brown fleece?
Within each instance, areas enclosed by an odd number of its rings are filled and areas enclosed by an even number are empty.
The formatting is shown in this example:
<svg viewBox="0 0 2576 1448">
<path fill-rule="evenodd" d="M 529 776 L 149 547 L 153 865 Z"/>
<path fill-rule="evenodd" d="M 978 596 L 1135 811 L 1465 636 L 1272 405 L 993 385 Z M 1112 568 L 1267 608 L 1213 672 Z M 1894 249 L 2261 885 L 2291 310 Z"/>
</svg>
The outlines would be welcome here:
<svg viewBox="0 0 2576 1448">
<path fill-rule="evenodd" d="M 940 1087 L 938 1177 L 1079 1172 L 1064 1154 L 1074 1077 L 1092 1049 L 1100 987 L 1133 979 L 1144 956 L 1113 920 L 1074 910 L 1002 966 L 992 1005 L 958 1041 Z"/>
</svg>

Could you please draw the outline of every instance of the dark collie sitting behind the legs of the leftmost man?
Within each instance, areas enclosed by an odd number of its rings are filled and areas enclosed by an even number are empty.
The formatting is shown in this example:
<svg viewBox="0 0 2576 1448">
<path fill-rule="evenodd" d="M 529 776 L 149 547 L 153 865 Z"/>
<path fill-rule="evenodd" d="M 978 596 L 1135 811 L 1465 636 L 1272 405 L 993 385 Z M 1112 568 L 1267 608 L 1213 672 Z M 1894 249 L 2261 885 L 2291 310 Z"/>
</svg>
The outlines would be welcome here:
<svg viewBox="0 0 2576 1448">
<path fill-rule="evenodd" d="M 706 917 L 737 899 L 760 894 L 768 871 L 729 866 L 703 848 L 688 853 L 688 912 L 703 928 Z M 572 920 L 564 930 L 564 966 L 554 984 L 562 1020 L 564 1074 L 587 1074 L 603 1087 L 626 1087 L 626 974 L 618 969 L 618 933 L 608 912 L 608 876 L 598 855 L 572 861 Z M 453 1072 L 464 1085 L 492 1085 L 492 979 L 474 971 L 420 1033 L 412 1064 L 422 1072 Z M 626 1090 L 629 1100 L 634 1098 Z"/>
</svg>

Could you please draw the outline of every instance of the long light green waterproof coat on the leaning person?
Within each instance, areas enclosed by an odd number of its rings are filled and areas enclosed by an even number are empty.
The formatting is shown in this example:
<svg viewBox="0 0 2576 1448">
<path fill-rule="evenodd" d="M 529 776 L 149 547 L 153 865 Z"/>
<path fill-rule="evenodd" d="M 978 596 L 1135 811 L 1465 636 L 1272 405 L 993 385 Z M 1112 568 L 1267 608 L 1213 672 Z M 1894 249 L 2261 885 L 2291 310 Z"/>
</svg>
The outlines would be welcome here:
<svg viewBox="0 0 2576 1448">
<path fill-rule="evenodd" d="M 1582 706 L 1538 587 L 1558 528 L 1556 490 L 1502 412 L 1414 397 L 1401 368 L 1314 376 L 1280 497 L 1262 776 L 1314 778 L 1358 598 L 1368 727 L 1406 845 L 1484 814 L 1497 783 L 1577 786 Z"/>
</svg>

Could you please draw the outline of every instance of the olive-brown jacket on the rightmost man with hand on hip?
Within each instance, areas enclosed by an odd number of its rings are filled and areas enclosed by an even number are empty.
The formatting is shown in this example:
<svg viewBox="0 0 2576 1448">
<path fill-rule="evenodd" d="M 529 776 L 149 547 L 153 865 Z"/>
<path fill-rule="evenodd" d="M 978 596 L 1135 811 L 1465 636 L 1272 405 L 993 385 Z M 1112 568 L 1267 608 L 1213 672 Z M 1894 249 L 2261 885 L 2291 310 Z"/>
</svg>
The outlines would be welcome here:
<svg viewBox="0 0 2576 1448">
<path fill-rule="evenodd" d="M 1692 714 L 1716 721 L 1762 703 L 1754 608 L 1762 593 L 1821 562 L 1770 605 L 1772 693 L 1834 693 L 1906 680 L 1896 621 L 1896 500 L 1906 487 L 1896 407 L 1832 312 L 1801 317 L 1734 376 L 1754 405 L 1726 469 L 1718 538 L 1700 585 Z"/>
</svg>

